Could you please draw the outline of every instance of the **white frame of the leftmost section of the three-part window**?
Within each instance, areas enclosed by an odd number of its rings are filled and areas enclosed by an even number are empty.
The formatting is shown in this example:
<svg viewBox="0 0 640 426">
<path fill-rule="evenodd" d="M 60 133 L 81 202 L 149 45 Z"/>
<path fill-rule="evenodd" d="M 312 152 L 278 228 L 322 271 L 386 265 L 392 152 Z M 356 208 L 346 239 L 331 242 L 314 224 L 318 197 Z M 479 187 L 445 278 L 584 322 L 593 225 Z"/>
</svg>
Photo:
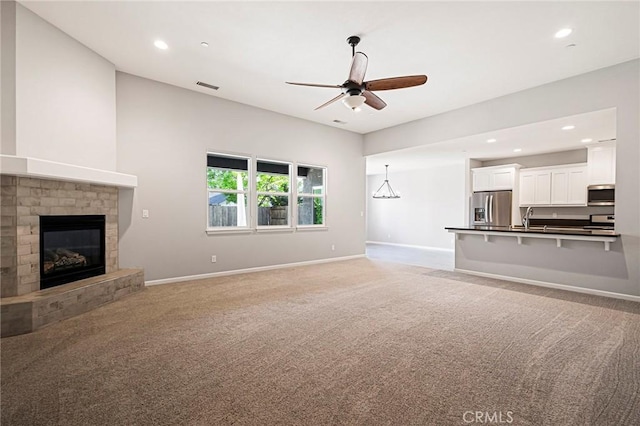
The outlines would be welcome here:
<svg viewBox="0 0 640 426">
<path fill-rule="evenodd" d="M 245 190 L 238 190 L 238 189 L 223 189 L 223 188 L 215 188 L 213 189 L 213 191 L 215 192 L 219 192 L 219 193 L 223 193 L 223 194 L 244 194 L 244 196 L 246 197 L 246 208 L 245 208 L 245 214 L 246 214 L 246 221 L 247 224 L 244 226 L 210 226 L 210 205 L 209 205 L 209 198 L 210 198 L 210 192 L 212 191 L 211 188 L 209 188 L 209 183 L 208 183 L 208 170 L 210 168 L 217 168 L 219 170 L 222 170 L 222 168 L 219 167 L 211 167 L 209 166 L 208 160 L 209 157 L 213 156 L 213 157 L 221 157 L 221 158 L 229 158 L 229 159 L 238 159 L 238 160 L 246 160 L 247 162 L 247 188 Z M 253 215 L 251 212 L 251 197 L 252 197 L 252 173 L 253 173 L 253 164 L 254 164 L 254 159 L 252 156 L 249 155 L 243 155 L 243 154 L 236 154 L 236 153 L 226 153 L 226 152 L 219 152 L 219 151 L 207 151 L 206 154 L 206 158 L 207 158 L 207 166 L 205 168 L 205 194 L 206 194 L 206 232 L 207 234 L 224 234 L 224 233 L 249 233 L 249 232 L 253 232 Z M 233 170 L 233 169 L 229 169 L 229 170 Z"/>
</svg>

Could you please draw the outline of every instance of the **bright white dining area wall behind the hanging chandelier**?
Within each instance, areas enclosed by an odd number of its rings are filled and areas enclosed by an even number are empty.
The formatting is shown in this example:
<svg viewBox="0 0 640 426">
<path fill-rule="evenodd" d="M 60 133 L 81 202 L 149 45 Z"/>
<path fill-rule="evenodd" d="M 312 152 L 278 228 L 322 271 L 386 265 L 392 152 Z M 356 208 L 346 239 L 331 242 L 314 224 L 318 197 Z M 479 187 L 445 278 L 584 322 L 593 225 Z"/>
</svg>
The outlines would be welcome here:
<svg viewBox="0 0 640 426">
<path fill-rule="evenodd" d="M 453 250 L 445 226 L 464 226 L 465 163 L 389 173 L 400 199 L 373 199 L 384 174 L 367 176 L 367 241 Z"/>
</svg>

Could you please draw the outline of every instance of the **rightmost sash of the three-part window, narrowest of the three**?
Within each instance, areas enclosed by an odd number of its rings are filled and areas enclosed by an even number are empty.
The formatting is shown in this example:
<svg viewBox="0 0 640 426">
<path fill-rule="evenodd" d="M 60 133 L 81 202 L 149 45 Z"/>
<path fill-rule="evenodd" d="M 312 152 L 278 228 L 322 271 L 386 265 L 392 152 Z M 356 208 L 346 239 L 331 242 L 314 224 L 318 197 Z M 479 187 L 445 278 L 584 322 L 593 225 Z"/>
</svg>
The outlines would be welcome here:
<svg viewBox="0 0 640 426">
<path fill-rule="evenodd" d="M 325 225 L 324 167 L 298 166 L 298 225 Z"/>
</svg>

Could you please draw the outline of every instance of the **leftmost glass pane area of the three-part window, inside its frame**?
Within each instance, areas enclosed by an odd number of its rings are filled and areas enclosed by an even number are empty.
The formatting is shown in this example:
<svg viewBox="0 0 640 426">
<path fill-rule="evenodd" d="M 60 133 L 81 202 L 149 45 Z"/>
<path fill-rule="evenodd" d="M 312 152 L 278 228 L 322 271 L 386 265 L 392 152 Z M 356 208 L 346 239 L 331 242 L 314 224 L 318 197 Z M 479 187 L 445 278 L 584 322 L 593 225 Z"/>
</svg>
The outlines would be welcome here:
<svg viewBox="0 0 640 426">
<path fill-rule="evenodd" d="M 208 228 L 247 228 L 249 163 L 246 157 L 207 154 Z"/>
</svg>

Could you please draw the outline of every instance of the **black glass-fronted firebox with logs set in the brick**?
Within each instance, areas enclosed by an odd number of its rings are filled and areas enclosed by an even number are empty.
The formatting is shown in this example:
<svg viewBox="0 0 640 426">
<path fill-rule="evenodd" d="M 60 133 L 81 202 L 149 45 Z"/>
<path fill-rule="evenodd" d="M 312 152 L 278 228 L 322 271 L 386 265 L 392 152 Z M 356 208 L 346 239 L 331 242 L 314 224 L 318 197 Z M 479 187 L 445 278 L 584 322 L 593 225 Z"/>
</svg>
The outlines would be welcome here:
<svg viewBox="0 0 640 426">
<path fill-rule="evenodd" d="M 40 216 L 40 289 L 105 273 L 105 216 Z"/>
</svg>

